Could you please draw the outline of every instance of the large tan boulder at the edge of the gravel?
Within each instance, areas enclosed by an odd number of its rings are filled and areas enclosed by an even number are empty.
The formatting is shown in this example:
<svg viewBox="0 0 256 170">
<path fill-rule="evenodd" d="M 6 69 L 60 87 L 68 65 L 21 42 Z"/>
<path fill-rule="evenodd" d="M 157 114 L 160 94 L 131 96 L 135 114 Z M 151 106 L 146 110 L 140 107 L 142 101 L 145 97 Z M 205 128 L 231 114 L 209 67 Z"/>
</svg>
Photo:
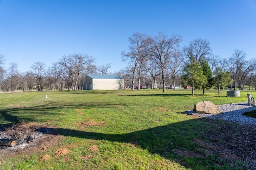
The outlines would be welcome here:
<svg viewBox="0 0 256 170">
<path fill-rule="evenodd" d="M 219 114 L 222 111 L 211 101 L 198 102 L 194 105 L 194 111 L 196 113 L 208 113 L 208 114 Z"/>
</svg>

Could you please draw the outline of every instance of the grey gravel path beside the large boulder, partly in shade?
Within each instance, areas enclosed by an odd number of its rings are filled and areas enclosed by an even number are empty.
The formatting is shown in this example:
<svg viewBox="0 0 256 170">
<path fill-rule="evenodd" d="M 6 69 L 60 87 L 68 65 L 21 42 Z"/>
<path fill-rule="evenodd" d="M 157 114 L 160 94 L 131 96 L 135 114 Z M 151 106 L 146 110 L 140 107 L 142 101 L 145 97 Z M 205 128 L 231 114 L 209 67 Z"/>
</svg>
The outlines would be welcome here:
<svg viewBox="0 0 256 170">
<path fill-rule="evenodd" d="M 195 111 L 185 111 L 187 114 L 197 115 L 200 117 L 208 117 L 210 119 L 219 119 L 224 121 L 233 121 L 240 124 L 251 124 L 256 125 L 256 119 L 252 117 L 247 117 L 242 115 L 242 113 L 247 111 L 255 110 L 255 106 L 249 106 L 248 102 L 236 103 L 236 104 L 225 104 L 218 106 L 222 113 L 213 114 L 199 114 Z"/>
</svg>

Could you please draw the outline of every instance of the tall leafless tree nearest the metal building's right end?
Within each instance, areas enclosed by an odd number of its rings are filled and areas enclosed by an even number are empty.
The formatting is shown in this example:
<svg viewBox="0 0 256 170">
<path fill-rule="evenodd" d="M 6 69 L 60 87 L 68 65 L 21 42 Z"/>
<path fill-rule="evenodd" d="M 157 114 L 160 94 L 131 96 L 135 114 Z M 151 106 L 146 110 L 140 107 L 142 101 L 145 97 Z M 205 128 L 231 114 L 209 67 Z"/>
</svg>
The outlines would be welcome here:
<svg viewBox="0 0 256 170">
<path fill-rule="evenodd" d="M 147 49 L 147 45 L 149 42 L 149 37 L 146 34 L 143 33 L 133 33 L 132 37 L 130 37 L 128 39 L 128 41 L 130 41 L 130 45 L 129 45 L 129 52 L 126 53 L 125 51 L 121 52 L 122 55 L 122 60 L 123 61 L 127 61 L 129 60 L 131 63 L 134 64 L 133 68 L 133 74 L 132 74 L 132 90 L 134 90 L 134 84 L 135 84 L 135 74 L 136 74 L 136 70 L 137 70 L 137 66 L 139 61 L 143 62 L 145 61 L 145 51 L 148 50 Z"/>
</svg>

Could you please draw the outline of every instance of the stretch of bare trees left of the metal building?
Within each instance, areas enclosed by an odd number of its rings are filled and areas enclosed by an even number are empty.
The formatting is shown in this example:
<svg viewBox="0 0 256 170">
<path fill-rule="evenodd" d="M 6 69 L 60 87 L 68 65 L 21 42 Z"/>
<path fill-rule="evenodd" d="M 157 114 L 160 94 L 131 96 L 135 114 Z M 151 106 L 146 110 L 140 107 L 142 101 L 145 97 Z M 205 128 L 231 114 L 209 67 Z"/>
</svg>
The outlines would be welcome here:
<svg viewBox="0 0 256 170">
<path fill-rule="evenodd" d="M 4 55 L 0 55 L 0 92 L 44 90 L 82 90 L 86 74 L 108 74 L 111 63 L 96 66 L 95 58 L 87 54 L 64 55 L 52 66 L 38 61 L 30 66 L 32 70 L 20 73 L 18 64 L 10 63 L 3 68 Z"/>
</svg>

